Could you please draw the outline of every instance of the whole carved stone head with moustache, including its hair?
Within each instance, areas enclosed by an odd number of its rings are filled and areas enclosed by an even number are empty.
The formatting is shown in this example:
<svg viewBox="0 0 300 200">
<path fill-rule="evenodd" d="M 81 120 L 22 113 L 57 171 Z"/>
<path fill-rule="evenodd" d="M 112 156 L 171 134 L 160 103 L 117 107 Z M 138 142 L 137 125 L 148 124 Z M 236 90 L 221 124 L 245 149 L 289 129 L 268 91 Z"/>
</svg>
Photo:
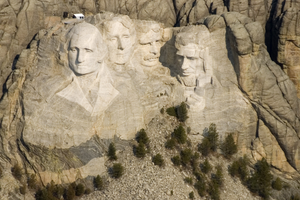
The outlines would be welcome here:
<svg viewBox="0 0 300 200">
<path fill-rule="evenodd" d="M 140 21 L 137 23 L 136 36 L 136 58 L 138 62 L 147 67 L 159 64 L 160 41 L 162 39 L 162 28 L 157 22 Z"/>
</svg>

